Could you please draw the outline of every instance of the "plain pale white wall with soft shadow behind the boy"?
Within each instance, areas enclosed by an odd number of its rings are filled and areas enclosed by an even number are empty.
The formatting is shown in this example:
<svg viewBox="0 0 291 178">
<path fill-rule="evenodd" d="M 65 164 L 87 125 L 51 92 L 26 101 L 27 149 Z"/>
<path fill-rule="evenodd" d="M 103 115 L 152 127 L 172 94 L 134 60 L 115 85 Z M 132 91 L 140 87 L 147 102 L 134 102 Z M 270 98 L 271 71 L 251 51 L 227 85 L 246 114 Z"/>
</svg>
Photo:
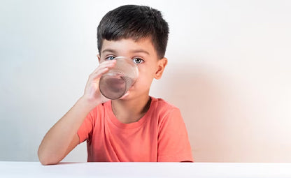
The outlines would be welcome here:
<svg viewBox="0 0 291 178">
<path fill-rule="evenodd" d="M 150 94 L 180 107 L 198 162 L 291 162 L 291 1 L 1 1 L 0 161 L 38 161 L 98 66 L 97 24 L 120 5 L 169 22 Z M 86 161 L 80 144 L 65 161 Z"/>
</svg>

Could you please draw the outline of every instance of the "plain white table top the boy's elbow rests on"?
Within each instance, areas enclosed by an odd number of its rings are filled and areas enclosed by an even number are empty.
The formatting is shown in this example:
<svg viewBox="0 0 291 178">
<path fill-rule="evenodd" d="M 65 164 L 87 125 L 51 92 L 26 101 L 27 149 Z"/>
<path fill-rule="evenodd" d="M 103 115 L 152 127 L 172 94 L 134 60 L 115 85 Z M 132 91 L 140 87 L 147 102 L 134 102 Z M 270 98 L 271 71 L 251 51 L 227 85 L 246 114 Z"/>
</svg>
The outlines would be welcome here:
<svg viewBox="0 0 291 178">
<path fill-rule="evenodd" d="M 59 163 L 0 161 L 0 177 L 291 177 L 291 163 Z"/>
</svg>

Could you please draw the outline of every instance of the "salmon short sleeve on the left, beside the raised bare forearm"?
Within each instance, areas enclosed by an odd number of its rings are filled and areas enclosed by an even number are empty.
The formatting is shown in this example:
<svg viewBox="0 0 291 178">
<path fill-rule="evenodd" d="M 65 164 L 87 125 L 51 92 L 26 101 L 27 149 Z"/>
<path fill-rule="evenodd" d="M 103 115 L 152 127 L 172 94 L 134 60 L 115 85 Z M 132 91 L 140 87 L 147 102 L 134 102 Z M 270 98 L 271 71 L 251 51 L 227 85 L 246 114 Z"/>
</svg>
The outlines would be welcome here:
<svg viewBox="0 0 291 178">
<path fill-rule="evenodd" d="M 84 119 L 82 125 L 78 129 L 77 133 L 79 136 L 80 143 L 84 142 L 90 137 L 90 135 L 92 135 L 93 127 L 96 120 L 96 111 L 97 107 L 95 107 L 91 112 L 89 112 L 89 114 L 87 114 L 87 117 Z"/>
</svg>

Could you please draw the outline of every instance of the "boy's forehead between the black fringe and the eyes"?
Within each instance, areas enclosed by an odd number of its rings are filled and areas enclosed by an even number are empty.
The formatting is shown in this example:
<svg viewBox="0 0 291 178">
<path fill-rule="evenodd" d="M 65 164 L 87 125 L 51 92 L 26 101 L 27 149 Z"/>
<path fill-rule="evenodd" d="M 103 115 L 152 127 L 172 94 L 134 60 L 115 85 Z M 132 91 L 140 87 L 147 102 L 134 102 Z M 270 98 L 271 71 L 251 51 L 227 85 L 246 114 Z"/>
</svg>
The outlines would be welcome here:
<svg viewBox="0 0 291 178">
<path fill-rule="evenodd" d="M 103 45 L 101 48 L 101 54 L 104 52 L 115 51 L 118 53 L 131 53 L 143 51 L 148 54 L 157 55 L 155 47 L 152 44 L 151 38 L 141 38 L 139 40 L 134 40 L 132 38 L 121 39 L 121 40 L 103 40 Z"/>
</svg>

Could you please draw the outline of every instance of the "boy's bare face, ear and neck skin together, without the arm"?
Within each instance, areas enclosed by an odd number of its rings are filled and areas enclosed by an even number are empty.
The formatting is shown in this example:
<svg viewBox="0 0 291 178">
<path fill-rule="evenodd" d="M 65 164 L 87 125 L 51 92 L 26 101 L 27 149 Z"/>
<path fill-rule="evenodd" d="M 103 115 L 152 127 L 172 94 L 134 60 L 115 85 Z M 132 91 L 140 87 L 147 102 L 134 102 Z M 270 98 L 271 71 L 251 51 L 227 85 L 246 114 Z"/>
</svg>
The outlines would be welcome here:
<svg viewBox="0 0 291 178">
<path fill-rule="evenodd" d="M 149 91 L 152 80 L 162 77 L 167 59 L 157 58 L 157 52 L 155 52 L 150 38 L 137 42 L 132 39 L 104 40 L 103 44 L 101 56 L 98 56 L 101 63 L 108 57 L 123 56 L 134 59 L 139 68 L 139 77 L 126 96 L 112 101 L 113 111 L 118 120 L 122 123 L 138 121 L 146 114 L 147 110 L 144 110 L 144 107 L 150 99 Z"/>
</svg>

